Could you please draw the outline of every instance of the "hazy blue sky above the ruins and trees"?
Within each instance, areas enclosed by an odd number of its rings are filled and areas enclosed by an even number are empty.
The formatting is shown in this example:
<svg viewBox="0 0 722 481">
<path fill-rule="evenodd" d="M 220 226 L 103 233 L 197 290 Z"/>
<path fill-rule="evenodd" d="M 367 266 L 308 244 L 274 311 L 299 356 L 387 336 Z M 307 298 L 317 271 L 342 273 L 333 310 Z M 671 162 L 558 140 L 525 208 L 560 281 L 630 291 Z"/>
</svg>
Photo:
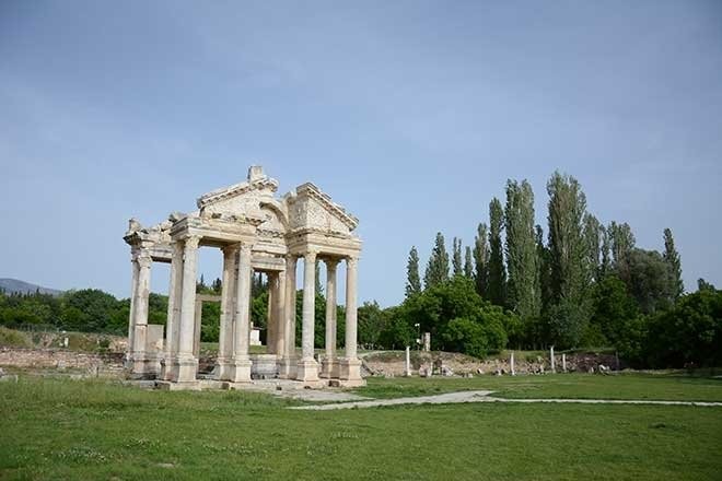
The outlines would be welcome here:
<svg viewBox="0 0 722 481">
<path fill-rule="evenodd" d="M 252 164 L 360 219 L 360 301 L 398 303 L 436 231 L 470 243 L 506 178 L 546 226 L 555 169 L 720 285 L 722 3 L 0 2 L 0 277 L 127 296 L 127 220 Z"/>
</svg>

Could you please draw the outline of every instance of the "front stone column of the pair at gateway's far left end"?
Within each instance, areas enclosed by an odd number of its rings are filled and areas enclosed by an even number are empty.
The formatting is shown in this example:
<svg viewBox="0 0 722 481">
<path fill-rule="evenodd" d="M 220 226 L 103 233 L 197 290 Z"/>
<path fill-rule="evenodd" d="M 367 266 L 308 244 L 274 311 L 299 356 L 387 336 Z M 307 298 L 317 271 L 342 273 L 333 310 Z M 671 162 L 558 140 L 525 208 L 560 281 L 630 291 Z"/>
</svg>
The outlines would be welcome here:
<svg viewBox="0 0 722 481">
<path fill-rule="evenodd" d="M 149 360 L 145 353 L 145 337 L 148 331 L 148 296 L 150 295 L 150 268 L 151 257 L 147 251 L 141 250 L 136 257 L 138 265 L 138 282 L 136 284 L 136 298 L 133 301 L 133 330 L 132 339 L 132 374 L 147 375 L 153 374 L 151 364 L 155 360 Z"/>
</svg>

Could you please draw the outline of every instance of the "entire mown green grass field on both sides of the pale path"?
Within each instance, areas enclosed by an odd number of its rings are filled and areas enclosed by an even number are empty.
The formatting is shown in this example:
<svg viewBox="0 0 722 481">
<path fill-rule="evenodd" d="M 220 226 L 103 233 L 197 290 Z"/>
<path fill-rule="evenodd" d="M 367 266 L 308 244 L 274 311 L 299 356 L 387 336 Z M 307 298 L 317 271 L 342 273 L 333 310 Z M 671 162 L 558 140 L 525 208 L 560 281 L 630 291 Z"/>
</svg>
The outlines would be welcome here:
<svg viewBox="0 0 722 481">
<path fill-rule="evenodd" d="M 722 382 L 660 376 L 371 379 L 377 397 L 722 400 Z M 720 479 L 722 408 L 450 404 L 292 411 L 249 392 L 100 382 L 0 383 L 0 479 Z"/>
</svg>

